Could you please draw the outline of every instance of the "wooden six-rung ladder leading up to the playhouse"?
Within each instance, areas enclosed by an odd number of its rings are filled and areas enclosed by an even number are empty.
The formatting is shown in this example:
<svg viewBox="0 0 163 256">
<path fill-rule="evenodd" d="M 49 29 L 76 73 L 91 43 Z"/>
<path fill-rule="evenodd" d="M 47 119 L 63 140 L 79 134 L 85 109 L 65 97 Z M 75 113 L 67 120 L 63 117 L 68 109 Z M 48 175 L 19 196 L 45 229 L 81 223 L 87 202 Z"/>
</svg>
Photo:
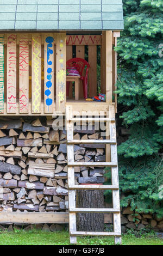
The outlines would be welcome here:
<svg viewBox="0 0 163 256">
<path fill-rule="evenodd" d="M 110 133 L 110 139 L 104 140 L 74 140 L 73 123 L 77 121 L 106 121 L 106 127 Z M 68 202 L 69 202 L 69 231 L 70 243 L 77 243 L 77 236 L 114 236 L 115 244 L 121 244 L 121 214 L 120 196 L 118 184 L 118 164 L 117 164 L 117 143 L 115 110 L 113 105 L 109 105 L 107 118 L 73 118 L 72 106 L 66 106 L 66 129 L 67 129 L 67 167 L 68 167 Z M 107 137 L 106 137 L 107 138 Z M 111 162 L 74 162 L 74 144 L 105 143 L 110 144 Z M 111 167 L 112 185 L 75 185 L 74 167 L 76 166 L 103 166 Z M 76 208 L 76 190 L 112 190 L 112 209 L 100 208 Z M 108 212 L 113 214 L 113 232 L 87 232 L 77 231 L 76 214 L 78 212 Z"/>
</svg>

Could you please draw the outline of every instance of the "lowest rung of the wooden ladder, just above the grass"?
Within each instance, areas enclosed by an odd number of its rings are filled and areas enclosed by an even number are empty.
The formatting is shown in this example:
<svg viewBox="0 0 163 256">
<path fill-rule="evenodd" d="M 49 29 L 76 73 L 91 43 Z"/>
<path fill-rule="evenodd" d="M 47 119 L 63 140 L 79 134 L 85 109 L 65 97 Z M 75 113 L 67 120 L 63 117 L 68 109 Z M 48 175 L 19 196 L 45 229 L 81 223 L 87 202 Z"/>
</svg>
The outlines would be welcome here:
<svg viewBox="0 0 163 256">
<path fill-rule="evenodd" d="M 71 236 L 90 235 L 90 236 L 121 236 L 121 233 L 116 232 L 87 232 L 87 231 L 71 231 Z"/>
</svg>

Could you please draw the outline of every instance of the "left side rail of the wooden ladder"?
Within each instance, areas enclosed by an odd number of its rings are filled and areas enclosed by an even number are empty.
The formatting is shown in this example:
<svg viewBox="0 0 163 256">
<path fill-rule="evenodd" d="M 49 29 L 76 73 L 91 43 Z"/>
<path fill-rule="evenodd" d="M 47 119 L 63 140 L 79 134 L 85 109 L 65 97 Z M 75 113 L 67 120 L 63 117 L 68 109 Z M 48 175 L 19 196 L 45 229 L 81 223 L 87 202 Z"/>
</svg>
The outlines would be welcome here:
<svg viewBox="0 0 163 256">
<path fill-rule="evenodd" d="M 67 139 L 73 139 L 73 123 L 69 122 L 69 119 L 72 118 L 72 107 L 66 106 L 66 129 L 67 129 Z M 74 147 L 73 145 L 67 144 L 67 161 L 74 162 Z M 74 167 L 68 167 L 68 187 L 74 186 Z M 76 191 L 68 190 L 68 207 L 76 208 Z M 69 213 L 69 230 L 70 233 L 77 231 L 76 225 L 76 214 Z M 70 243 L 77 243 L 77 237 L 70 235 Z"/>
</svg>

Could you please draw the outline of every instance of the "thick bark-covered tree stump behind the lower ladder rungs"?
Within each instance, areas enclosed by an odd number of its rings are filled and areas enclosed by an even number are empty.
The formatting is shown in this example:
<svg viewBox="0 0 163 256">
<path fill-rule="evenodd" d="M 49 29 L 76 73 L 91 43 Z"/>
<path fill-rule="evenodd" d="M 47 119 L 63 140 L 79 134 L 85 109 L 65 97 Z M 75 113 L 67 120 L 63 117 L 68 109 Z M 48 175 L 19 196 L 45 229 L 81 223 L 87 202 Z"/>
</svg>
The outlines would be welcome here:
<svg viewBox="0 0 163 256">
<path fill-rule="evenodd" d="M 104 208 L 103 190 L 77 190 L 77 208 Z M 104 214 L 77 214 L 78 231 L 104 231 Z"/>
</svg>

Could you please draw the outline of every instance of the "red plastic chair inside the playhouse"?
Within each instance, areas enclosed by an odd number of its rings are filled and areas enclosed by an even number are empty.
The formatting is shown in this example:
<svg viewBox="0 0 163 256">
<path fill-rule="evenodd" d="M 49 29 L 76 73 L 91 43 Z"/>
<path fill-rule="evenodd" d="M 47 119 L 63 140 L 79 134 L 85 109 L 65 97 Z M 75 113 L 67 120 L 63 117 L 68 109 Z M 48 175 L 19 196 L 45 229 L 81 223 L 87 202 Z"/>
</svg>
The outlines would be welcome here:
<svg viewBox="0 0 163 256">
<path fill-rule="evenodd" d="M 86 69 L 85 69 L 86 66 Z M 90 64 L 82 58 L 73 58 L 70 60 L 67 60 L 66 62 L 66 68 L 75 68 L 78 70 L 80 74 L 80 79 L 83 81 L 83 94 L 84 94 L 84 99 L 87 98 L 87 76 L 90 68 Z M 67 82 L 67 88 L 66 92 L 67 95 L 69 95 L 69 88 L 70 88 L 70 82 Z"/>
</svg>

